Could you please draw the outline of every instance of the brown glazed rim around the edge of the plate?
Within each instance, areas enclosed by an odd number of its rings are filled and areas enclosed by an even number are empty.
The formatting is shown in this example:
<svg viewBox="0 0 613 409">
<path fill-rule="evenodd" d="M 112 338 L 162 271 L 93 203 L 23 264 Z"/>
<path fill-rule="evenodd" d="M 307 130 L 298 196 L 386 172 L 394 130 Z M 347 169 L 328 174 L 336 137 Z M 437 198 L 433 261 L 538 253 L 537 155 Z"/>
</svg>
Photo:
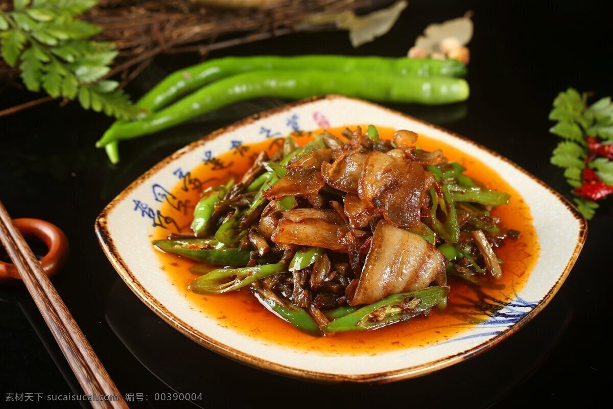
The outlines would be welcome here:
<svg viewBox="0 0 613 409">
<path fill-rule="evenodd" d="M 199 331 L 197 331 L 196 329 L 194 329 L 193 327 L 189 326 L 187 323 L 179 319 L 177 316 L 173 315 L 173 313 L 169 312 L 169 310 L 167 310 L 166 307 L 164 307 L 164 305 L 160 304 L 158 300 L 155 299 L 155 297 L 153 297 L 145 288 L 143 288 L 143 286 L 134 277 L 134 275 L 132 274 L 128 266 L 125 264 L 123 259 L 121 259 L 121 256 L 118 254 L 118 251 L 116 250 L 115 245 L 113 244 L 113 240 L 111 239 L 109 231 L 106 226 L 107 214 L 110 213 L 110 211 L 113 210 L 113 208 L 119 202 L 123 201 L 124 197 L 128 195 L 132 191 L 132 189 L 136 188 L 141 183 L 145 182 L 145 180 L 147 180 L 147 178 L 150 177 L 151 174 L 156 173 L 159 169 L 166 166 L 166 164 L 168 164 L 169 162 L 199 147 L 200 145 L 202 145 L 202 143 L 208 140 L 211 140 L 211 139 L 215 139 L 216 137 L 219 137 L 225 134 L 226 132 L 231 131 L 232 129 L 240 128 L 242 126 L 245 126 L 246 124 L 253 123 L 257 120 L 260 120 L 261 118 L 270 117 L 270 115 L 284 112 L 294 107 L 309 104 L 311 102 L 319 101 L 321 99 L 329 99 L 329 100 L 348 99 L 348 100 L 360 102 L 362 104 L 373 105 L 374 107 L 377 107 L 379 109 L 384 109 L 396 115 L 401 115 L 402 117 L 408 118 L 409 120 L 413 120 L 413 121 L 425 124 L 427 126 L 431 126 L 433 128 L 439 129 L 440 131 L 446 132 L 447 134 L 454 136 L 457 139 L 463 140 L 466 143 L 470 143 L 471 145 L 481 148 L 482 150 L 489 152 L 496 158 L 501 159 L 504 162 L 507 162 L 508 164 L 515 167 L 517 170 L 519 170 L 520 172 L 530 177 L 532 180 L 535 180 L 535 182 L 543 186 L 543 188 L 549 191 L 549 193 L 557 197 L 557 199 L 560 202 L 562 202 L 562 204 L 565 205 L 566 208 L 568 208 L 568 210 L 573 214 L 576 220 L 579 221 L 579 234 L 577 235 L 577 241 L 575 243 L 573 254 L 571 254 L 571 257 L 569 258 L 569 261 L 566 264 L 566 267 L 562 275 L 560 275 L 558 280 L 555 282 L 554 286 L 552 286 L 552 288 L 549 289 L 549 292 L 547 292 L 546 296 L 544 296 L 543 299 L 541 299 L 541 301 L 536 305 L 536 307 L 533 308 L 529 313 L 527 313 L 527 315 L 525 315 L 522 319 L 512 324 L 512 326 L 509 326 L 507 329 L 505 329 L 504 332 L 502 332 L 500 335 L 490 338 L 489 340 L 485 340 L 484 342 L 482 342 L 481 344 L 477 346 L 474 346 L 470 350 L 462 351 L 461 353 L 441 358 L 438 361 L 427 362 L 425 364 L 417 365 L 417 366 L 409 367 L 409 368 L 397 369 L 393 371 L 380 372 L 380 373 L 367 373 L 363 375 L 342 375 L 342 374 L 316 372 L 316 371 L 298 369 L 295 367 L 289 367 L 286 365 L 277 364 L 275 362 L 266 361 L 265 359 L 261 359 L 259 357 L 250 355 L 243 351 L 239 351 L 239 350 L 235 350 L 234 348 L 230 348 L 229 346 L 224 345 L 223 343 L 219 343 L 216 340 L 213 340 L 207 337 L 207 335 L 200 333 Z M 211 134 L 208 134 L 202 139 L 196 140 L 190 143 L 189 145 L 187 145 L 186 147 L 181 148 L 180 150 L 176 151 L 175 153 L 168 156 L 167 158 L 162 159 L 162 161 L 158 162 L 158 164 L 154 165 L 153 167 L 151 167 L 151 169 L 147 170 L 147 172 L 140 175 L 139 178 L 137 178 L 126 189 L 124 189 L 120 194 L 118 194 L 118 196 L 116 196 L 115 199 L 113 199 L 102 210 L 100 215 L 96 218 L 95 231 L 96 231 L 98 240 L 100 242 L 100 245 L 102 247 L 102 250 L 106 254 L 107 258 L 109 258 L 109 261 L 111 262 L 113 267 L 115 267 L 115 270 L 117 270 L 121 278 L 132 289 L 132 291 L 137 295 L 137 297 L 139 297 L 149 308 L 151 308 L 153 312 L 158 314 L 162 319 L 164 319 L 164 321 L 166 321 L 167 323 L 175 327 L 175 329 L 180 331 L 182 334 L 191 338 L 195 342 L 200 343 L 201 345 L 204 345 L 207 348 L 215 351 L 216 353 L 223 354 L 224 356 L 230 357 L 234 359 L 235 361 L 242 362 L 244 364 L 248 364 L 248 365 L 257 367 L 259 369 L 266 370 L 268 372 L 281 373 L 283 375 L 289 375 L 291 377 L 298 377 L 298 378 L 303 378 L 303 379 L 312 380 L 312 381 L 325 381 L 325 382 L 335 382 L 335 383 L 342 383 L 342 382 L 387 383 L 387 382 L 398 381 L 398 380 L 403 380 L 403 379 L 408 379 L 408 378 L 420 377 L 422 375 L 426 375 L 427 373 L 432 373 L 432 372 L 435 372 L 436 370 L 440 370 L 450 365 L 456 364 L 457 362 L 461 362 L 461 361 L 465 361 L 466 359 L 470 359 L 471 357 L 477 356 L 478 354 L 481 354 L 482 352 L 488 350 L 489 348 L 492 348 L 493 346 L 497 345 L 499 342 L 508 338 L 510 335 L 514 334 L 517 330 L 519 330 L 522 326 L 524 326 L 524 324 L 530 321 L 530 319 L 536 316 L 539 312 L 541 312 L 541 310 L 543 310 L 544 307 L 546 307 L 547 304 L 549 304 L 552 297 L 555 296 L 555 294 L 558 292 L 560 287 L 562 287 L 562 284 L 568 277 L 571 269 L 573 268 L 575 262 L 577 261 L 577 258 L 579 257 L 579 253 L 581 253 L 581 250 L 585 243 L 585 239 L 587 238 L 587 220 L 585 220 L 584 216 L 581 215 L 581 213 L 579 213 L 579 210 L 577 210 L 577 208 L 574 207 L 574 205 L 571 204 L 571 202 L 569 202 L 568 199 L 566 199 L 560 193 L 552 189 L 549 185 L 539 180 L 539 178 L 530 174 L 530 172 L 518 166 L 514 162 L 498 154 L 497 152 L 492 151 L 489 148 L 481 145 L 480 143 L 474 142 L 473 140 L 470 140 L 459 134 L 455 134 L 455 132 L 451 132 L 435 124 L 427 123 L 426 121 L 422 121 L 417 118 L 411 117 L 410 115 L 406 115 L 405 113 L 398 112 L 396 110 L 392 110 L 392 109 L 383 107 L 378 104 L 373 104 L 372 102 L 368 102 L 368 101 L 364 101 L 364 100 L 352 98 L 352 97 L 340 96 L 340 95 L 327 95 L 327 96 L 310 97 L 310 98 L 303 99 L 300 101 L 291 102 L 289 104 L 282 105 L 281 107 L 276 107 L 274 109 L 266 110 L 256 115 L 252 115 L 251 117 L 244 118 L 243 120 L 239 120 L 235 123 L 225 126 L 224 128 L 218 129 L 217 131 L 214 131 Z"/>
</svg>

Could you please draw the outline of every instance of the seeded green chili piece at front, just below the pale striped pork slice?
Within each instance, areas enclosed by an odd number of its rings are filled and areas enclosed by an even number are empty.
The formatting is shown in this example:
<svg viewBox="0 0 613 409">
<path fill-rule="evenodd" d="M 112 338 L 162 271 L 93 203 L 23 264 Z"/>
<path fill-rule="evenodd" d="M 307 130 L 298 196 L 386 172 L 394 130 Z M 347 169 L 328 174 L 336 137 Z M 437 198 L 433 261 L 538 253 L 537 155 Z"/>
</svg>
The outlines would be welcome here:
<svg viewBox="0 0 613 409">
<path fill-rule="evenodd" d="M 387 324 L 407 321 L 421 315 L 447 296 L 449 287 L 428 287 L 418 291 L 394 294 L 381 301 L 330 321 L 325 332 L 364 331 Z"/>
</svg>

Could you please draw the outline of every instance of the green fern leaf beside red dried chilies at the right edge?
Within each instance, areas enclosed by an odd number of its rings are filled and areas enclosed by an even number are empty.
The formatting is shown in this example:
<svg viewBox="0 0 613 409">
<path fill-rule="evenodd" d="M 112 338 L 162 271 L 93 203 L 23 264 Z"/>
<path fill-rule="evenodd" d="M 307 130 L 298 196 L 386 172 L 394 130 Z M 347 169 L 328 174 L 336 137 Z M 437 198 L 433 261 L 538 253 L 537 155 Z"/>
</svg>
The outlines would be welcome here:
<svg viewBox="0 0 613 409">
<path fill-rule="evenodd" d="M 610 97 L 605 97 L 588 105 L 587 98 L 586 93 L 580 94 L 568 88 L 558 94 L 554 109 L 549 113 L 549 119 L 557 121 L 549 131 L 563 139 L 554 149 L 550 161 L 565 169 L 564 176 L 575 188 L 574 194 L 577 194 L 577 188 L 585 188 L 582 175 L 586 167 L 595 170 L 600 178 L 598 183 L 613 185 L 613 161 L 609 159 L 613 155 L 609 151 L 613 150 L 608 149 L 613 143 L 613 104 Z M 588 144 L 590 137 L 597 142 L 592 140 L 592 144 Z M 596 201 L 586 197 L 575 197 L 573 201 L 587 219 L 591 219 L 599 207 Z"/>
</svg>

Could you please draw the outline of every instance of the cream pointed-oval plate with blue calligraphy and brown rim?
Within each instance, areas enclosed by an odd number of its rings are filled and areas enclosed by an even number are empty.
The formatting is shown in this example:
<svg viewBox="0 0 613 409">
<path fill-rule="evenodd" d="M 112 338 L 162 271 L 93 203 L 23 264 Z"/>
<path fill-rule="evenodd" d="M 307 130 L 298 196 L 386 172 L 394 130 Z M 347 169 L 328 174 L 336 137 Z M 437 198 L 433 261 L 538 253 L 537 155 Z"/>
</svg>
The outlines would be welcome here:
<svg viewBox="0 0 613 409">
<path fill-rule="evenodd" d="M 358 354 L 326 354 L 262 342 L 197 311 L 173 285 L 151 246 L 155 229 L 172 219 L 160 209 L 186 172 L 243 143 L 292 131 L 372 121 L 409 129 L 479 158 L 512 185 L 530 207 L 538 259 L 522 288 L 495 313 L 466 324 L 462 332 L 427 346 Z M 170 195 L 170 196 L 169 196 Z M 343 96 L 315 97 L 238 121 L 191 143 L 159 162 L 120 193 L 96 220 L 102 249 L 129 288 L 171 326 L 192 340 L 245 364 L 319 381 L 386 382 L 425 375 L 468 359 L 516 332 L 558 291 L 579 256 L 587 223 L 576 208 L 545 183 L 489 149 L 438 126 L 376 104 Z"/>
</svg>

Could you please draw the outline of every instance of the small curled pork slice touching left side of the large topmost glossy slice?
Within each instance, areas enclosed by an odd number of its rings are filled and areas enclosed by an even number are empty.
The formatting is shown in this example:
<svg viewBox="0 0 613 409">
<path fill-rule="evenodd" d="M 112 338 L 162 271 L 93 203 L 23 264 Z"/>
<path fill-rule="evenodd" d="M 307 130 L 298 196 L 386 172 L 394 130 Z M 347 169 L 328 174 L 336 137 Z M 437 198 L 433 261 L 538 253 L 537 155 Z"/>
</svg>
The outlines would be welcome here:
<svg viewBox="0 0 613 409">
<path fill-rule="evenodd" d="M 352 152 L 341 156 L 332 164 L 324 162 L 321 175 L 333 188 L 347 193 L 357 193 L 366 157 L 366 153 Z"/>
</svg>

